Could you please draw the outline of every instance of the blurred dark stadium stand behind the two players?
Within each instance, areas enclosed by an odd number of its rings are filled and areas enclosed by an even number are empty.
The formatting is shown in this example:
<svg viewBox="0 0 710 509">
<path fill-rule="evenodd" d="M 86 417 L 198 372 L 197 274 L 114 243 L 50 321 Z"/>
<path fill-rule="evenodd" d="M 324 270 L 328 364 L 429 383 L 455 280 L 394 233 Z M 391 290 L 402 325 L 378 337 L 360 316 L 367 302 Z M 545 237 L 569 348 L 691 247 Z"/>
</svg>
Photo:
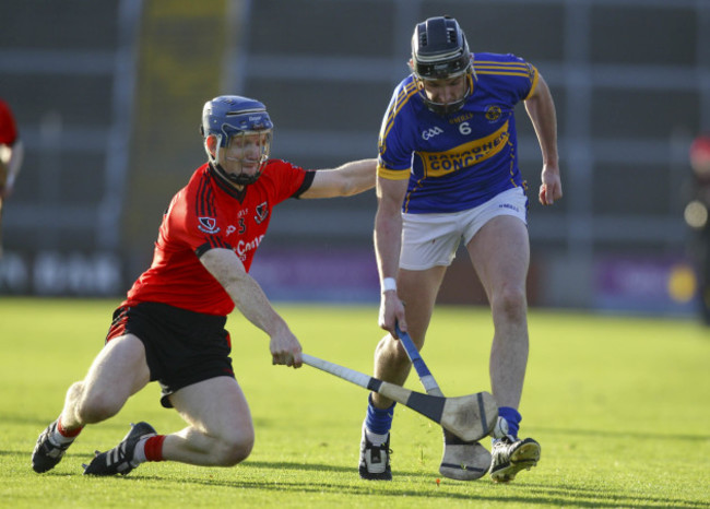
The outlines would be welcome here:
<svg viewBox="0 0 710 509">
<path fill-rule="evenodd" d="M 169 198 L 204 161 L 205 99 L 264 102 L 272 156 L 374 156 L 419 20 L 514 52 L 557 106 L 565 198 L 534 200 L 533 306 L 683 315 L 697 298 L 683 221 L 688 146 L 710 129 L 707 0 L 23 0 L 0 7 L 0 96 L 26 155 L 3 218 L 0 295 L 120 296 Z M 524 116 L 520 107 L 519 116 Z M 276 210 L 255 276 L 275 299 L 376 301 L 372 193 Z M 441 292 L 485 303 L 460 252 Z"/>
</svg>

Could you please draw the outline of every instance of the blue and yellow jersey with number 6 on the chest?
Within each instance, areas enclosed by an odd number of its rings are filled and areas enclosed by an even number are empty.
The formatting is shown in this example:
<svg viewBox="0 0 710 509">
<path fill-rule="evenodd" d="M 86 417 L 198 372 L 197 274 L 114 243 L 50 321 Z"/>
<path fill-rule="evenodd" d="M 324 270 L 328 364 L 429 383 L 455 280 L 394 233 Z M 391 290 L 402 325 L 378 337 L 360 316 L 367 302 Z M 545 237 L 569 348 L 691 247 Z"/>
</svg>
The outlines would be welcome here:
<svg viewBox="0 0 710 509">
<path fill-rule="evenodd" d="M 410 179 L 404 212 L 468 210 L 522 185 L 513 109 L 535 90 L 537 70 L 498 54 L 475 54 L 473 68 L 473 92 L 446 117 L 427 109 L 413 75 L 394 90 L 380 129 L 377 171 Z"/>
</svg>

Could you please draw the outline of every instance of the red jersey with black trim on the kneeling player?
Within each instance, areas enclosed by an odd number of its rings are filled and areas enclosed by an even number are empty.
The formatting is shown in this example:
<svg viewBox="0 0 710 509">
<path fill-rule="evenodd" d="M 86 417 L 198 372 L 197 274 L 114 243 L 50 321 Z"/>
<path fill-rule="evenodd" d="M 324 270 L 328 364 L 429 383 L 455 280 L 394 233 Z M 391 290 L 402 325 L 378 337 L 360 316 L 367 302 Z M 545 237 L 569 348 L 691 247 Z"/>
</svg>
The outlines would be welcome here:
<svg viewBox="0 0 710 509">
<path fill-rule="evenodd" d="M 128 292 L 125 305 L 164 303 L 226 316 L 234 303 L 199 258 L 210 249 L 232 249 L 247 271 L 263 239 L 271 210 L 306 191 L 315 173 L 271 159 L 255 184 L 237 191 L 209 164 L 198 168 L 166 211 L 153 263 Z"/>
</svg>

